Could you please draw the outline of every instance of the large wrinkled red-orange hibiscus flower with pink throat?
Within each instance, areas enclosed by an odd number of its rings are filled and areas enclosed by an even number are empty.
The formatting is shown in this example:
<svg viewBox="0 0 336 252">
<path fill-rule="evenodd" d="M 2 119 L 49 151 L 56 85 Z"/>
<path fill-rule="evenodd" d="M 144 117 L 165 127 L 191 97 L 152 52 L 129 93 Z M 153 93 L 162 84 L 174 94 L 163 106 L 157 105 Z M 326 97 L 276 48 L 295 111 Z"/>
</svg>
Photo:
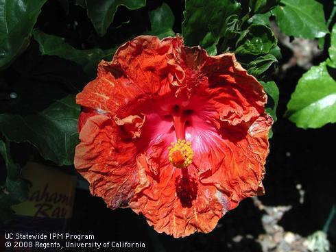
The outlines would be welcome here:
<svg viewBox="0 0 336 252">
<path fill-rule="evenodd" d="M 139 36 L 77 95 L 75 167 L 108 207 L 131 207 L 158 232 L 210 232 L 263 194 L 266 100 L 234 54 Z"/>
</svg>

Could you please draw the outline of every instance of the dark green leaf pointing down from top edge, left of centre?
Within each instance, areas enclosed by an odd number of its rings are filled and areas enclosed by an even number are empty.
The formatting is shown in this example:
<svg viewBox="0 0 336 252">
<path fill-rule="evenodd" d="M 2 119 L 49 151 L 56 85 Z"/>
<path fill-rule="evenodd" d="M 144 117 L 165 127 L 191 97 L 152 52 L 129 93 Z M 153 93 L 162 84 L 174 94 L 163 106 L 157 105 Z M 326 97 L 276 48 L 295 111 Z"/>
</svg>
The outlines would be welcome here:
<svg viewBox="0 0 336 252">
<path fill-rule="evenodd" d="M 81 1 L 81 5 L 84 5 Z M 136 10 L 146 5 L 146 0 L 86 0 L 88 18 L 99 36 L 104 36 L 120 5 Z"/>
</svg>

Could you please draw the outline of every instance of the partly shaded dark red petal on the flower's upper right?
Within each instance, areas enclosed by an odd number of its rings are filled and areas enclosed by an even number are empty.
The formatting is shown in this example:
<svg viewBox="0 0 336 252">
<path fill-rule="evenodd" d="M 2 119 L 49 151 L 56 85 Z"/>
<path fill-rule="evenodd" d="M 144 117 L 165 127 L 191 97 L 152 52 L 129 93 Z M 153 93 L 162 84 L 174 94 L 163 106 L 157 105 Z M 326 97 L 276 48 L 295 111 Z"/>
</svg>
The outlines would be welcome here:
<svg viewBox="0 0 336 252">
<path fill-rule="evenodd" d="M 233 53 L 208 57 L 202 71 L 208 77 L 208 97 L 221 121 L 237 125 L 265 112 L 263 87 L 241 67 Z"/>
</svg>

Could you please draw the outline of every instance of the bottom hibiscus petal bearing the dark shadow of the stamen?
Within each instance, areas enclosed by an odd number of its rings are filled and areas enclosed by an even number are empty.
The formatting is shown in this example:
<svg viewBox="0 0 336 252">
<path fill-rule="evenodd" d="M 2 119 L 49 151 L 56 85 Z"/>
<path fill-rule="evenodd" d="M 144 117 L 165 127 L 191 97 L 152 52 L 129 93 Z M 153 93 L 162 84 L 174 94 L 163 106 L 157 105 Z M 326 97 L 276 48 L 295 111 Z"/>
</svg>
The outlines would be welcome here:
<svg viewBox="0 0 336 252">
<path fill-rule="evenodd" d="M 144 164 L 143 167 L 147 167 Z M 175 238 L 189 236 L 195 231 L 212 231 L 221 216 L 228 211 L 228 202 L 215 186 L 200 184 L 197 171 L 161 167 L 160 176 L 147 175 L 148 186 L 134 195 L 130 207 L 147 218 L 159 233 Z"/>
</svg>

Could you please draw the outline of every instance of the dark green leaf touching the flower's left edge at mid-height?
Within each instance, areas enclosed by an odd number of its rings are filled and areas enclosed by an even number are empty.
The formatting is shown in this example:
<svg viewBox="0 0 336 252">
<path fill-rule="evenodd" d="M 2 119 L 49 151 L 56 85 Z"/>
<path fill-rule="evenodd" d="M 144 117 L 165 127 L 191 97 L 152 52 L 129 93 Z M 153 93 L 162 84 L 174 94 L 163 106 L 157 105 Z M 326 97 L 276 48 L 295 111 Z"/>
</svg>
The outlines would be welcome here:
<svg viewBox="0 0 336 252">
<path fill-rule="evenodd" d="M 11 141 L 33 144 L 46 160 L 70 165 L 78 142 L 79 114 L 80 106 L 69 95 L 36 114 L 0 114 L 0 131 Z"/>
</svg>

